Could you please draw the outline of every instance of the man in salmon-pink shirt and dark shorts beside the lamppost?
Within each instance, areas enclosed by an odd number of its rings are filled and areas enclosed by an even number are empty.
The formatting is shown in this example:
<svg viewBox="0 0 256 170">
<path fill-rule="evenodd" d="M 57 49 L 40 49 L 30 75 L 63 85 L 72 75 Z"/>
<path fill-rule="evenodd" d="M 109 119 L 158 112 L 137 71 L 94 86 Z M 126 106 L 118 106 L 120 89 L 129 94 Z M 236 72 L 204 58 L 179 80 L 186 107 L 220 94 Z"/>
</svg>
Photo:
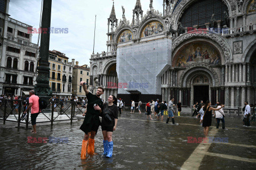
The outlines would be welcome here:
<svg viewBox="0 0 256 170">
<path fill-rule="evenodd" d="M 24 117 L 26 117 L 27 112 L 31 108 L 31 124 L 33 126 L 33 131 L 31 131 L 31 132 L 32 133 L 36 133 L 36 117 L 40 113 L 39 97 L 35 95 L 35 91 L 34 90 L 30 90 L 29 91 L 29 96 L 30 96 L 29 100 L 28 100 L 29 105 L 28 105 L 27 109 L 23 113 L 25 114 Z"/>
</svg>

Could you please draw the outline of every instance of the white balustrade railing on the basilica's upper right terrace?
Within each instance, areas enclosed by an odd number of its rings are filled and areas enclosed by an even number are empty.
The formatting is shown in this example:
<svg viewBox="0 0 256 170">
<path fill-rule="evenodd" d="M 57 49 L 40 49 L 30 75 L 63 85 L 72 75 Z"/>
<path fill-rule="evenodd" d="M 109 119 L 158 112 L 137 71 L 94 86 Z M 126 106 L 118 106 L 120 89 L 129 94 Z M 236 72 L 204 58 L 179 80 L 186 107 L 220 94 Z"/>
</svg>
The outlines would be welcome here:
<svg viewBox="0 0 256 170">
<path fill-rule="evenodd" d="M 256 24 L 245 25 L 236 28 L 222 29 L 222 36 L 238 34 L 242 32 L 250 32 L 256 30 Z"/>
</svg>

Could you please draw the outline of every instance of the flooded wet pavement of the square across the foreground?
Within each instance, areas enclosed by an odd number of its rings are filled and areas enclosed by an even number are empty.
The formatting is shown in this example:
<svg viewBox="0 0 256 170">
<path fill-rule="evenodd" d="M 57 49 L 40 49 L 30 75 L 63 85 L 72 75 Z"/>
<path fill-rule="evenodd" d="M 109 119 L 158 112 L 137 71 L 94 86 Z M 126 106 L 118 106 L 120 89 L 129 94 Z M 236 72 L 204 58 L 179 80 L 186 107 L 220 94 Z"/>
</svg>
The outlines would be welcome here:
<svg viewBox="0 0 256 170">
<path fill-rule="evenodd" d="M 3 125 L 1 121 L 1 169 L 255 169 L 256 124 L 247 128 L 242 125 L 241 116 L 226 116 L 227 129 L 216 130 L 213 119 L 209 137 L 214 134 L 215 138 L 228 138 L 228 142 L 188 143 L 188 137 L 203 137 L 199 119 L 175 116 L 175 125 L 165 124 L 165 120 L 166 116 L 163 122 L 147 121 L 144 114 L 124 112 L 113 133 L 113 158 L 100 155 L 103 136 L 99 129 L 95 137 L 98 155 L 86 160 L 80 159 L 82 121 L 52 128 L 41 125 L 37 134 L 14 128 L 10 123 Z M 28 143 L 28 137 L 68 138 L 68 143 Z M 199 154 L 198 149 L 202 149 Z"/>
</svg>

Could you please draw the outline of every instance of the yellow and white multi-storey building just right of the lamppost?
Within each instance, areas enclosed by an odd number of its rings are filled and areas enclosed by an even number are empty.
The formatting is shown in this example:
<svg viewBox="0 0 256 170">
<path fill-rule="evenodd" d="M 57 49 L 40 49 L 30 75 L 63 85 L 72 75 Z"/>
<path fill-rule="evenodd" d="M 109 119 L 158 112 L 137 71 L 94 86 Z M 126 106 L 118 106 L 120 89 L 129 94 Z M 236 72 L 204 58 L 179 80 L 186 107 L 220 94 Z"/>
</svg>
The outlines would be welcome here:
<svg viewBox="0 0 256 170">
<path fill-rule="evenodd" d="M 71 98 L 74 59 L 68 62 L 66 54 L 57 50 L 49 51 L 49 85 L 53 96 Z"/>
</svg>

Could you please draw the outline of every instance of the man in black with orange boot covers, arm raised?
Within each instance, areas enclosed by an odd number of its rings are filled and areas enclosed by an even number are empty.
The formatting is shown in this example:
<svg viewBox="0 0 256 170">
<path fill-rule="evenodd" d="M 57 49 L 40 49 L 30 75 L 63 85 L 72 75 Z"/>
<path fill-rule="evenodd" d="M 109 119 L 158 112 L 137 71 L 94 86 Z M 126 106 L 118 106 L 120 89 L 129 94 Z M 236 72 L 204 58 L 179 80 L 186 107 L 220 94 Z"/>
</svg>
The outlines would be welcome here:
<svg viewBox="0 0 256 170">
<path fill-rule="evenodd" d="M 85 159 L 87 144 L 88 154 L 94 154 L 94 137 L 97 134 L 99 126 L 101 124 L 99 115 L 103 111 L 103 101 L 100 96 L 103 94 L 104 89 L 102 87 L 99 87 L 96 95 L 93 95 L 87 89 L 86 83 L 84 81 L 81 81 L 80 84 L 81 86 L 83 86 L 87 98 L 87 112 L 84 117 L 84 122 L 80 127 L 80 129 L 85 133 L 81 151 L 81 159 Z"/>
</svg>

